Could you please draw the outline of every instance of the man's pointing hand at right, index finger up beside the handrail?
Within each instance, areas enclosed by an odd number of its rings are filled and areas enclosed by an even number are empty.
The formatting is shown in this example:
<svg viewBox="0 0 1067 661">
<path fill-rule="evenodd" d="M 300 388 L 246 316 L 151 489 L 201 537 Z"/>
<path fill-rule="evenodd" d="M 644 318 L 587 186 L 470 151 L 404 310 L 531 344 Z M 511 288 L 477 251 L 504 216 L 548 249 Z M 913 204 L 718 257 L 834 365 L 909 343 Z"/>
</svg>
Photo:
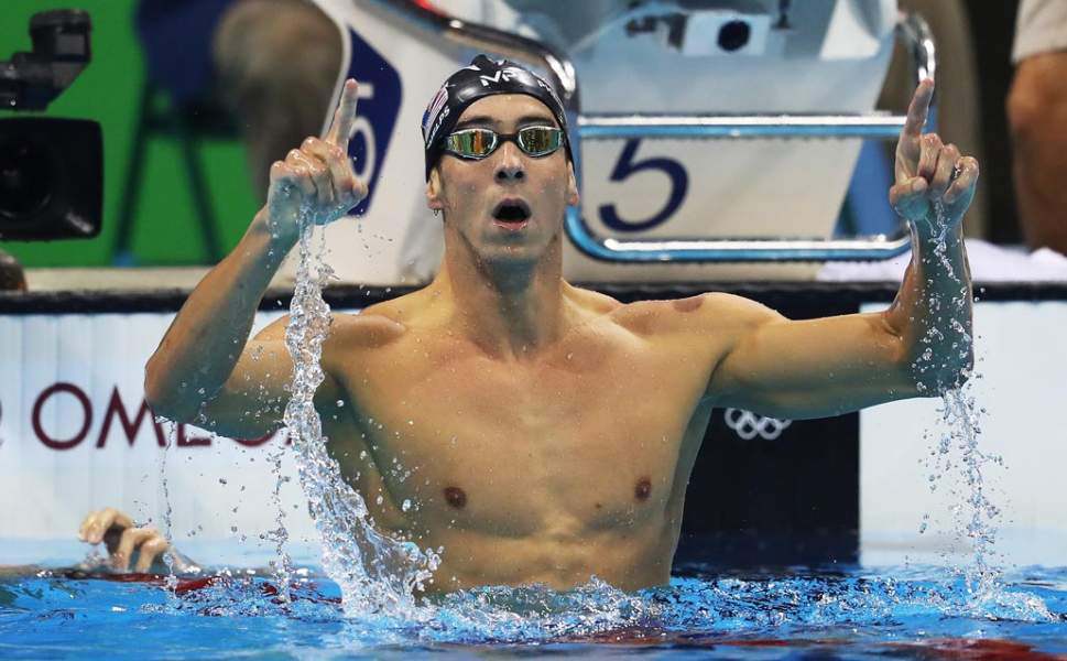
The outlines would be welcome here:
<svg viewBox="0 0 1067 661">
<path fill-rule="evenodd" d="M 890 188 L 890 204 L 922 235 L 938 236 L 958 225 L 970 206 L 978 161 L 960 155 L 955 144 L 944 144 L 937 133 L 923 133 L 933 96 L 929 78 L 915 88 L 896 143 L 896 184 Z M 935 205 L 944 208 L 940 217 Z"/>
</svg>

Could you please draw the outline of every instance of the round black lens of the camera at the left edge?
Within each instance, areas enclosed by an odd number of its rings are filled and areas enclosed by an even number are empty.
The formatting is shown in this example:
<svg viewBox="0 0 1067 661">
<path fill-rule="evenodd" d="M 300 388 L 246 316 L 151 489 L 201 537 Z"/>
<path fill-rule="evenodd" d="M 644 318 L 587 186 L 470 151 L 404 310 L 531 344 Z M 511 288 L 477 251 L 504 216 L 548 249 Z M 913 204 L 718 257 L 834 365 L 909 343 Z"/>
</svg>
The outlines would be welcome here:
<svg viewBox="0 0 1067 661">
<path fill-rule="evenodd" d="M 0 221 L 24 221 L 52 198 L 51 150 L 9 138 L 0 142 Z"/>
</svg>

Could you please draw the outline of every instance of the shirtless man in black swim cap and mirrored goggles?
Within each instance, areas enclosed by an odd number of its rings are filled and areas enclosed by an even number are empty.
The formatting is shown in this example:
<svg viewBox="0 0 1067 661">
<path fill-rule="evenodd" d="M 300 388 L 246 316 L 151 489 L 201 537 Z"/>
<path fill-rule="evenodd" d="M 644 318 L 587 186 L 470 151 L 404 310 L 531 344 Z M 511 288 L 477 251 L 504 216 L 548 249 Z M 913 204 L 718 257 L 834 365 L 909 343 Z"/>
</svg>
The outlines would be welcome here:
<svg viewBox="0 0 1067 661">
<path fill-rule="evenodd" d="M 287 319 L 248 335 L 297 240 L 301 205 L 329 223 L 367 194 L 346 155 L 356 88 L 345 85 L 323 139 L 274 163 L 266 205 L 174 319 L 146 368 L 156 413 L 203 411 L 211 430 L 243 437 L 282 424 L 275 409 L 247 412 L 287 397 Z M 330 451 L 380 529 L 444 546 L 440 589 L 569 588 L 591 575 L 628 590 L 666 583 L 714 407 L 837 415 L 937 394 L 971 366 L 960 220 L 978 163 L 922 134 L 933 82 L 918 86 L 896 150 L 890 201 L 913 221 L 914 248 L 896 301 L 799 322 L 721 293 L 623 305 L 567 283 L 563 219 L 578 191 L 563 109 L 546 90 L 484 57 L 449 78 L 424 121 L 426 201 L 444 216 L 440 272 L 425 289 L 335 315 L 324 345 L 316 402 Z M 943 230 L 944 261 L 934 254 Z M 961 291 L 961 305 L 948 304 Z M 386 470 L 394 459 L 411 478 Z M 402 511 L 406 499 L 418 507 Z M 116 516 L 90 516 L 83 538 L 100 541 Z M 159 538 L 123 522 L 120 565 Z"/>
</svg>

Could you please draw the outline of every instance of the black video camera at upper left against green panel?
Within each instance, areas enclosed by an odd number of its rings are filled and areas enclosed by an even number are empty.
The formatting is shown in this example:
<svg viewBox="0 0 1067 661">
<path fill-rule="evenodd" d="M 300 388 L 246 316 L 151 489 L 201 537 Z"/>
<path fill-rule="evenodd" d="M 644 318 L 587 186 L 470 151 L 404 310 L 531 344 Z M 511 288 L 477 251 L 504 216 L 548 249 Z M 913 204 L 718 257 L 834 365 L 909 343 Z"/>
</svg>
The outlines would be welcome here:
<svg viewBox="0 0 1067 661">
<path fill-rule="evenodd" d="M 88 65 L 89 14 L 57 10 L 30 19 L 31 53 L 0 62 L 0 109 L 44 110 Z M 80 119 L 0 119 L 0 240 L 100 234 L 104 139 Z"/>
</svg>

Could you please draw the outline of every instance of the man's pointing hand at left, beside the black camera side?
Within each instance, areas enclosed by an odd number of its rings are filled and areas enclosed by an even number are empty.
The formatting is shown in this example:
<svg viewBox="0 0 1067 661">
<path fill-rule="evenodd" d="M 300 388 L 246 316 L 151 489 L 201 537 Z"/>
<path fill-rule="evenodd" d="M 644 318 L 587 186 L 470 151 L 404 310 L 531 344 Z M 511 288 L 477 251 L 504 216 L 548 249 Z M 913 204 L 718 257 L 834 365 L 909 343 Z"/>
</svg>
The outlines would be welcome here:
<svg viewBox="0 0 1067 661">
<path fill-rule="evenodd" d="M 326 134 L 307 138 L 300 149 L 291 150 L 284 161 L 271 166 L 266 210 L 275 236 L 295 240 L 302 210 L 312 214 L 317 225 L 326 225 L 367 197 L 367 184 L 356 176 L 348 156 L 358 94 L 356 80 L 346 80 Z"/>
</svg>

